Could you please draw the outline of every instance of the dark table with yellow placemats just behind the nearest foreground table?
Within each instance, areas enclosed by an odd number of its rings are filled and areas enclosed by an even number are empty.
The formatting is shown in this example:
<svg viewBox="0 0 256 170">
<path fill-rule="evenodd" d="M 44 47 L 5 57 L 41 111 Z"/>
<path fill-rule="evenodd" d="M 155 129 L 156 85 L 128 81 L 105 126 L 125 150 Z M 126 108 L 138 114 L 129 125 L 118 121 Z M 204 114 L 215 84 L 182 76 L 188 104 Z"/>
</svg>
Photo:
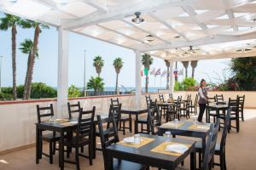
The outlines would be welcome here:
<svg viewBox="0 0 256 170">
<path fill-rule="evenodd" d="M 201 144 L 202 144 L 202 150 L 204 153 L 204 150 L 206 149 L 206 144 L 207 144 L 207 136 L 210 133 L 210 128 L 208 130 L 194 130 L 194 129 L 189 129 L 191 125 L 193 125 L 193 122 L 189 121 L 181 121 L 183 122 L 182 127 L 164 127 L 160 126 L 159 128 L 159 135 L 163 135 L 163 133 L 166 133 L 166 131 L 170 131 L 172 133 L 172 137 L 175 138 L 176 135 L 181 135 L 181 136 L 188 136 L 188 137 L 194 137 L 194 138 L 200 138 L 201 139 Z M 211 123 L 203 123 L 203 122 L 197 122 L 198 125 L 206 125 L 210 127 Z M 199 165 L 201 167 L 201 164 Z"/>
</svg>

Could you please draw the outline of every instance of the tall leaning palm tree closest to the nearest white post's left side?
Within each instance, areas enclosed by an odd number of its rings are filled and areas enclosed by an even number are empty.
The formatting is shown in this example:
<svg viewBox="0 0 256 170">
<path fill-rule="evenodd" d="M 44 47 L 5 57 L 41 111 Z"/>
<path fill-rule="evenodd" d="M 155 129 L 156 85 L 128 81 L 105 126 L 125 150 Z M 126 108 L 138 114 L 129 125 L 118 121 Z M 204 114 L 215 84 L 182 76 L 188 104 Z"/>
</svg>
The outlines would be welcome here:
<svg viewBox="0 0 256 170">
<path fill-rule="evenodd" d="M 31 94 L 32 75 L 33 75 L 33 68 L 34 68 L 34 64 L 35 64 L 35 58 L 38 55 L 39 34 L 42 32 L 42 29 L 49 28 L 49 26 L 46 26 L 46 25 L 38 23 L 38 22 L 34 22 L 32 20 L 21 20 L 20 23 L 23 28 L 34 28 L 35 29 L 32 52 L 29 55 L 28 62 L 27 62 L 28 66 L 27 66 L 27 71 L 26 71 L 26 80 L 25 80 L 24 95 L 23 95 L 23 99 L 29 99 L 30 94 Z"/>
</svg>

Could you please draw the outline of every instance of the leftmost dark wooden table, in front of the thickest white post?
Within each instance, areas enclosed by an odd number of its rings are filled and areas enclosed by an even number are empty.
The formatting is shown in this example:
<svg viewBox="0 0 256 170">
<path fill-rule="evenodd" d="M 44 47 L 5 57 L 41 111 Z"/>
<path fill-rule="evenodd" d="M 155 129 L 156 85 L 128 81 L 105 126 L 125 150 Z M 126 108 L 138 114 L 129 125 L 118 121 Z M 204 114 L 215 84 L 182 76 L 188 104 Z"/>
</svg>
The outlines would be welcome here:
<svg viewBox="0 0 256 170">
<path fill-rule="evenodd" d="M 107 116 L 102 116 L 102 119 L 106 118 Z M 71 121 L 71 120 L 70 120 Z M 69 122 L 70 122 L 69 121 Z M 63 125 L 62 123 L 65 122 L 39 122 L 36 123 L 36 162 L 38 163 L 39 160 L 39 138 L 40 133 L 43 130 L 48 131 L 55 131 L 57 133 L 60 133 L 61 139 L 59 141 L 59 167 L 61 169 L 64 169 L 64 133 L 71 132 L 72 130 L 76 129 L 78 127 L 77 124 L 68 124 Z M 94 127 L 93 127 L 93 157 L 96 157 L 96 125 L 97 125 L 97 119 L 96 116 L 94 118 Z"/>
</svg>

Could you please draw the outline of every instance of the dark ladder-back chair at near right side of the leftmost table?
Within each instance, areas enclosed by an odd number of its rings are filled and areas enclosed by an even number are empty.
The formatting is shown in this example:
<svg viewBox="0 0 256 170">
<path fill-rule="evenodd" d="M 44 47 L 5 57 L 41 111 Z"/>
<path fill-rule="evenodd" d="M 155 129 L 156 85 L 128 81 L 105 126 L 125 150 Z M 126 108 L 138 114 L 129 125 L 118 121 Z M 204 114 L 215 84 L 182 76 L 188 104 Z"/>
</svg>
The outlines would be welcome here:
<svg viewBox="0 0 256 170">
<path fill-rule="evenodd" d="M 79 166 L 79 156 L 89 158 L 90 165 L 92 165 L 93 159 L 93 126 L 94 126 L 94 116 L 96 107 L 93 106 L 91 111 L 82 111 L 79 113 L 78 127 L 75 131 L 76 135 L 72 139 L 64 139 L 64 145 L 75 149 L 75 161 L 64 160 L 68 163 L 73 163 L 76 165 L 77 170 L 80 169 Z M 89 156 L 85 156 L 79 153 L 79 148 L 88 145 Z M 67 157 L 69 152 L 67 152 Z"/>
</svg>

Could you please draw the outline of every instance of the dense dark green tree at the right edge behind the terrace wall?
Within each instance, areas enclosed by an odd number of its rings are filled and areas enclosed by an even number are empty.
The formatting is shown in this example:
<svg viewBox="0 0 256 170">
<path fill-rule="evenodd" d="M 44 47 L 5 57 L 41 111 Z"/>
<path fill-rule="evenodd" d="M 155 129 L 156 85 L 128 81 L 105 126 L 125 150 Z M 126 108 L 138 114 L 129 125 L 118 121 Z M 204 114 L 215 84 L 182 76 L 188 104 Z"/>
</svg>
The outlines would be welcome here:
<svg viewBox="0 0 256 170">
<path fill-rule="evenodd" d="M 231 59 L 230 70 L 241 90 L 256 90 L 256 57 Z"/>
</svg>

